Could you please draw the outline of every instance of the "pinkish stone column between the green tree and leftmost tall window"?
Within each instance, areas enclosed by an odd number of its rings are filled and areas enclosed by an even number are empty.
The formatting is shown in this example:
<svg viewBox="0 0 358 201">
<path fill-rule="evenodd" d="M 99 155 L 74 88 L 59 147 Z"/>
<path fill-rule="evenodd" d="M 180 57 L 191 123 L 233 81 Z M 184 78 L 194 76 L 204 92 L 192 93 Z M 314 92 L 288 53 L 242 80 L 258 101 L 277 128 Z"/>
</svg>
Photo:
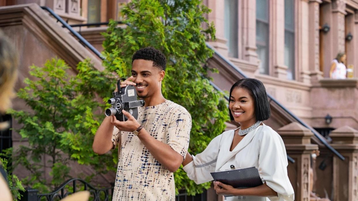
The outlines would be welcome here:
<svg viewBox="0 0 358 201">
<path fill-rule="evenodd" d="M 214 22 L 216 29 L 216 41 L 211 41 L 209 44 L 213 46 L 220 54 L 227 57 L 228 48 L 226 46 L 227 40 L 224 35 L 224 1 L 208 0 L 207 6 L 212 11 L 208 14 L 208 21 Z"/>
</svg>

